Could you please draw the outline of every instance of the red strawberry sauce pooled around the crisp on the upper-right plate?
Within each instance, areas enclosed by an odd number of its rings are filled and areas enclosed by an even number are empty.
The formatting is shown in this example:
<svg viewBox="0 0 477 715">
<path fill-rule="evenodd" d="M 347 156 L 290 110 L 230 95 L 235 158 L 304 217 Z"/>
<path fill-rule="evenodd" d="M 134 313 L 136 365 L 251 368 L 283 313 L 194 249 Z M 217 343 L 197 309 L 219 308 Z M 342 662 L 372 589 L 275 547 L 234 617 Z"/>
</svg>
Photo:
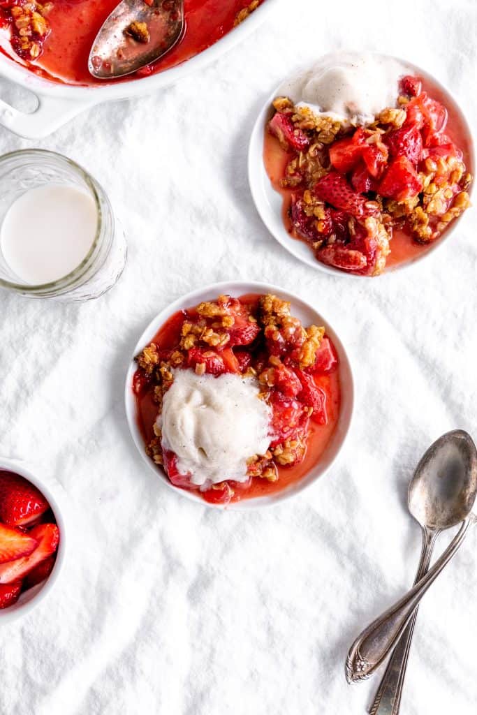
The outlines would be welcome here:
<svg viewBox="0 0 477 715">
<path fill-rule="evenodd" d="M 441 102 L 441 104 L 443 104 L 443 106 L 448 110 L 448 125 L 446 127 L 446 134 L 448 134 L 453 143 L 461 149 L 466 166 L 469 171 L 473 172 L 474 167 L 471 161 L 471 137 L 468 134 L 468 129 L 466 128 L 461 112 L 446 92 L 443 92 L 442 89 L 428 79 L 420 79 L 423 83 L 423 90 L 428 92 L 430 97 L 433 97 L 433 99 Z M 300 235 L 292 229 L 289 215 L 292 189 L 286 189 L 280 186 L 280 179 L 285 172 L 287 162 L 290 160 L 290 154 L 287 154 L 287 152 L 280 147 L 277 139 L 270 134 L 267 128 L 265 128 L 263 160 L 265 163 L 265 170 L 270 178 L 273 188 L 282 196 L 282 218 L 287 231 L 296 240 L 306 243 L 306 240 L 300 237 Z M 443 232 L 443 235 L 445 234 L 446 231 Z M 441 238 L 442 236 L 439 237 L 438 240 L 441 240 Z M 435 242 L 432 242 L 430 245 L 419 244 L 414 241 L 412 237 L 405 232 L 405 230 L 395 229 L 393 231 L 393 239 L 390 242 L 391 252 L 388 256 L 388 260 L 386 261 L 386 270 L 402 263 L 411 262 L 415 258 L 426 253 L 434 243 Z"/>
</svg>

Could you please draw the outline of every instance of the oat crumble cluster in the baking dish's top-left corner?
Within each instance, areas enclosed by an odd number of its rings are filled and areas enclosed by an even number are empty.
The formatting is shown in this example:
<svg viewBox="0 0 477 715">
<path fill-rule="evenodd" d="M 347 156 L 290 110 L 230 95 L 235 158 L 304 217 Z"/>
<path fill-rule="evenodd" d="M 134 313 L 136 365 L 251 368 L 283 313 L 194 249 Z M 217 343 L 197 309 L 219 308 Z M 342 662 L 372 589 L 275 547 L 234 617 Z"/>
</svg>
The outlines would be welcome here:
<svg viewBox="0 0 477 715">
<path fill-rule="evenodd" d="M 53 3 L 35 0 L 4 0 L 1 13 L 11 26 L 11 46 L 21 59 L 34 61 L 41 56 L 43 43 L 49 35 L 46 19 Z"/>
</svg>

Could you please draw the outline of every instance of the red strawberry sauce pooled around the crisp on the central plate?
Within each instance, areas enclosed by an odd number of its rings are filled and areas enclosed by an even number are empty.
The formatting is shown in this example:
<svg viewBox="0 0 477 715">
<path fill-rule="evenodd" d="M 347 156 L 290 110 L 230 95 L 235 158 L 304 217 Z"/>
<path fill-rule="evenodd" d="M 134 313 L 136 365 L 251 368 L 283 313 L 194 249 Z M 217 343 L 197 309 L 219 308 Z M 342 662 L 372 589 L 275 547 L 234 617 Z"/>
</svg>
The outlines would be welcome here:
<svg viewBox="0 0 477 715">
<path fill-rule="evenodd" d="M 242 295 L 239 300 L 247 305 L 256 306 L 258 295 Z M 178 311 L 164 323 L 157 334 L 152 338 L 157 347 L 162 350 L 172 350 L 180 341 L 180 330 L 187 316 L 193 319 L 197 315 L 194 309 Z M 328 337 L 329 339 L 329 337 Z M 279 478 L 276 482 L 269 482 L 263 478 L 252 478 L 250 485 L 245 488 L 234 484 L 235 495 L 231 501 L 240 501 L 245 498 L 267 496 L 285 490 L 303 477 L 317 465 L 325 453 L 328 443 L 335 431 L 340 416 L 340 370 L 334 370 L 327 375 L 314 375 L 313 379 L 319 388 L 326 394 L 327 423 L 319 425 L 310 420 L 307 441 L 307 452 L 304 460 L 292 467 L 278 467 Z M 144 443 L 149 443 L 154 437 L 152 426 L 157 418 L 158 406 L 152 399 L 152 389 L 147 383 L 141 382 L 140 370 L 134 375 L 134 399 L 137 408 L 137 425 L 142 434 Z"/>
</svg>

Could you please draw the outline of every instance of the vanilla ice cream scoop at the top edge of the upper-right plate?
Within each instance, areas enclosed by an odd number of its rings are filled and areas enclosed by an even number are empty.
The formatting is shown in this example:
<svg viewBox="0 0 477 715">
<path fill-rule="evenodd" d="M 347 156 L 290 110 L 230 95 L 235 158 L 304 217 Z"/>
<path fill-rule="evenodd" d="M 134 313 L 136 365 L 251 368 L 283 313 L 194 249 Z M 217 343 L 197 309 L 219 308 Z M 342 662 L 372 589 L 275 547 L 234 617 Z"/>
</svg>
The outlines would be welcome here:
<svg viewBox="0 0 477 715">
<path fill-rule="evenodd" d="M 365 125 L 395 107 L 400 78 L 410 73 L 410 66 L 386 55 L 333 52 L 285 81 L 278 93 L 343 124 Z"/>
</svg>

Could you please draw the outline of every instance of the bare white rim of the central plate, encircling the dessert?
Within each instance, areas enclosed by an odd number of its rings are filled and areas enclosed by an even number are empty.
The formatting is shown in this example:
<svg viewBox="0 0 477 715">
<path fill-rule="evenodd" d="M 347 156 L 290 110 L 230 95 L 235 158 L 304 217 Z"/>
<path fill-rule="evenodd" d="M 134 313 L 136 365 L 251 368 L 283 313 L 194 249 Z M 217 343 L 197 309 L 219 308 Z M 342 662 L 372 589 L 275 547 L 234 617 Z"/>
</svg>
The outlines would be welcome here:
<svg viewBox="0 0 477 715">
<path fill-rule="evenodd" d="M 195 493 L 194 491 L 175 487 L 174 485 L 172 485 L 172 483 L 170 483 L 164 470 L 159 466 L 154 465 L 154 463 L 152 462 L 152 460 L 149 459 L 144 450 L 144 440 L 142 439 L 142 435 L 137 426 L 136 404 L 134 400 L 134 394 L 132 392 L 132 378 L 135 371 L 137 370 L 137 364 L 134 362 L 134 355 L 137 355 L 143 349 L 143 347 L 149 345 L 149 342 L 151 342 L 154 335 L 156 335 L 159 328 L 164 325 L 168 318 L 171 317 L 171 315 L 174 315 L 174 313 L 178 310 L 182 310 L 182 308 L 193 307 L 198 303 L 202 302 L 203 300 L 215 300 L 217 296 L 223 293 L 232 295 L 232 297 L 239 297 L 240 295 L 246 295 L 247 293 L 275 293 L 275 295 L 278 295 L 280 298 L 290 301 L 293 315 L 299 317 L 304 325 L 311 325 L 312 323 L 315 323 L 315 325 L 324 325 L 326 328 L 326 332 L 328 332 L 328 335 L 330 335 L 331 340 L 333 340 L 335 348 L 338 351 L 338 357 L 340 359 L 341 378 L 340 418 L 338 420 L 338 425 L 336 426 L 335 432 L 333 433 L 330 443 L 328 443 L 325 452 L 320 459 L 320 462 L 315 465 L 315 467 L 311 469 L 310 472 L 303 477 L 303 479 L 300 479 L 299 482 L 290 485 L 290 487 L 287 489 L 265 497 L 243 499 L 242 501 L 239 501 L 237 503 L 231 503 L 227 506 L 223 506 L 220 504 L 210 504 L 204 499 L 202 499 L 200 496 L 198 496 L 197 493 Z M 136 347 L 134 348 L 134 355 L 132 356 L 129 369 L 127 370 L 124 393 L 127 423 L 129 425 L 129 430 L 131 430 L 134 444 L 136 445 L 139 454 L 141 455 L 144 462 L 147 464 L 148 468 L 154 472 L 154 475 L 159 477 L 159 479 L 162 480 L 162 482 L 166 484 L 169 488 L 173 489 L 175 493 L 180 493 L 186 498 L 192 499 L 192 501 L 202 504 L 202 506 L 210 506 L 220 509 L 226 508 L 233 510 L 244 510 L 256 508 L 258 506 L 270 506 L 277 502 L 283 501 L 284 499 L 294 494 L 297 494 L 300 491 L 303 491 L 303 489 L 315 482 L 318 477 L 325 474 L 325 472 L 328 471 L 328 469 L 331 467 L 331 465 L 337 458 L 340 450 L 343 448 L 345 438 L 348 435 L 348 430 L 350 429 L 351 418 L 353 415 L 354 400 L 353 374 L 351 372 L 348 355 L 346 354 L 345 348 L 343 347 L 343 344 L 340 341 L 338 335 L 336 335 L 333 328 L 330 327 L 328 322 L 320 315 L 320 313 L 316 312 L 316 310 L 311 305 L 301 300 L 300 297 L 297 297 L 296 295 L 293 295 L 286 290 L 282 290 L 282 288 L 279 288 L 275 285 L 268 285 L 266 283 L 225 282 L 215 283 L 214 285 L 209 285 L 205 288 L 200 288 L 200 290 L 192 291 L 191 293 L 180 297 L 178 300 L 174 300 L 171 305 L 169 305 L 167 308 L 164 308 L 164 310 L 162 310 L 162 312 L 160 312 L 159 315 L 157 315 L 157 317 L 155 317 L 154 320 L 149 323 L 146 330 L 144 330 L 141 337 L 139 338 Z"/>
</svg>

